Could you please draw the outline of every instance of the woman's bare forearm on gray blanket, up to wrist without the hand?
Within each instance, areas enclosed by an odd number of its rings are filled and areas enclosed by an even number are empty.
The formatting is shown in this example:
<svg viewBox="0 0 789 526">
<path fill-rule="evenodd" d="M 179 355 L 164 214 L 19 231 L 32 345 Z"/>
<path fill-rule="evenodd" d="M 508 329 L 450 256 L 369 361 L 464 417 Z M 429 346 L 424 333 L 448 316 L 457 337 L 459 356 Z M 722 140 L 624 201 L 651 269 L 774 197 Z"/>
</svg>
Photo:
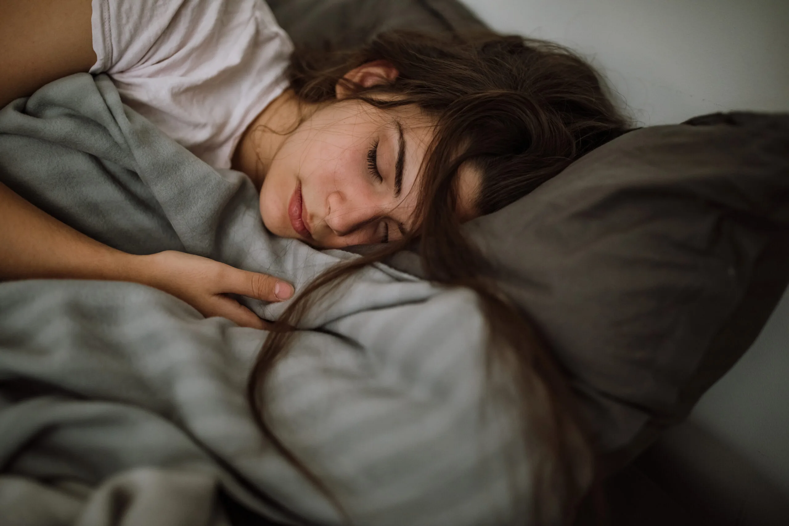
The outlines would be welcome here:
<svg viewBox="0 0 789 526">
<path fill-rule="evenodd" d="M 0 280 L 77 278 L 142 281 L 140 256 L 99 243 L 0 183 Z"/>
</svg>

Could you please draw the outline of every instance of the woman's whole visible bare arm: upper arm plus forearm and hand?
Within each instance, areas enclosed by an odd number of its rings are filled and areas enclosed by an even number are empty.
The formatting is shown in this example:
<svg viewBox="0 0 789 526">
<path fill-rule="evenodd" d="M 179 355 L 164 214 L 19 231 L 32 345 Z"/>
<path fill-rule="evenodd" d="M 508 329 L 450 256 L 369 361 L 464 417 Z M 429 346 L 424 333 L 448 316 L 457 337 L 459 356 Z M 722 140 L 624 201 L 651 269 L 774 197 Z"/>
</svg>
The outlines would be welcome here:
<svg viewBox="0 0 789 526">
<path fill-rule="evenodd" d="M 95 63 L 91 0 L 0 0 L 0 106 Z M 181 298 L 205 316 L 243 326 L 263 320 L 227 293 L 277 301 L 293 287 L 181 252 L 132 256 L 40 211 L 0 183 L 0 281 L 81 278 L 137 282 Z"/>
</svg>

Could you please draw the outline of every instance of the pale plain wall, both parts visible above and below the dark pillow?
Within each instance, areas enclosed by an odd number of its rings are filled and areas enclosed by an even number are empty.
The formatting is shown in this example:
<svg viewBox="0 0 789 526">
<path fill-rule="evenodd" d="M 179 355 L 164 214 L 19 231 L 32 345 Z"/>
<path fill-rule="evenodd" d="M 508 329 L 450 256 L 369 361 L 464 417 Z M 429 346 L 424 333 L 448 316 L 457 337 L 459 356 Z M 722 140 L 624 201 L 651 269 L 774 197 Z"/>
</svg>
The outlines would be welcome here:
<svg viewBox="0 0 789 526">
<path fill-rule="evenodd" d="M 789 0 L 462 2 L 499 32 L 580 51 L 637 125 L 717 111 L 789 111 Z M 789 498 L 789 293 L 689 420 Z M 718 468 L 700 467 L 711 477 Z"/>
</svg>

